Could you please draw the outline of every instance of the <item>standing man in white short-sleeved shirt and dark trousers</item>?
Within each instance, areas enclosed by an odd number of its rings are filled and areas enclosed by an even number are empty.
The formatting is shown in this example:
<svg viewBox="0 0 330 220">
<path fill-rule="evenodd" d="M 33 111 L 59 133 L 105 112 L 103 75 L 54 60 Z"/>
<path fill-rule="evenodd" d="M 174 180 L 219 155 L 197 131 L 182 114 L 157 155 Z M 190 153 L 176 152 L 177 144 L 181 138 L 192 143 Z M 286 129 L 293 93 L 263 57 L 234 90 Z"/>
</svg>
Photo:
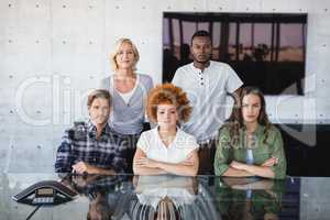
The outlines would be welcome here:
<svg viewBox="0 0 330 220">
<path fill-rule="evenodd" d="M 224 63 L 211 61 L 212 41 L 207 31 L 191 37 L 194 62 L 178 68 L 173 84 L 182 87 L 193 106 L 190 120 L 182 129 L 193 134 L 199 145 L 199 174 L 213 174 L 216 139 L 226 120 L 226 98 L 234 97 L 243 85 L 235 72 Z"/>
</svg>

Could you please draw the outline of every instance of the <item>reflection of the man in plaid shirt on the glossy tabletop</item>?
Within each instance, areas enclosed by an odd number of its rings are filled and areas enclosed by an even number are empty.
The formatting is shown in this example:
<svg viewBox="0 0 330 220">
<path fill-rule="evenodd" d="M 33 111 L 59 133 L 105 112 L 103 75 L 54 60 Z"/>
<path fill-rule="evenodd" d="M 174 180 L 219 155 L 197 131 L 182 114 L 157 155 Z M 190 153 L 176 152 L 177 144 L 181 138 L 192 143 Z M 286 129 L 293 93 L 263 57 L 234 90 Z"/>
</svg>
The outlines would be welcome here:
<svg viewBox="0 0 330 220">
<path fill-rule="evenodd" d="M 68 175 L 62 179 L 67 187 L 89 199 L 87 219 L 127 219 L 129 204 L 134 201 L 130 176 Z"/>
</svg>

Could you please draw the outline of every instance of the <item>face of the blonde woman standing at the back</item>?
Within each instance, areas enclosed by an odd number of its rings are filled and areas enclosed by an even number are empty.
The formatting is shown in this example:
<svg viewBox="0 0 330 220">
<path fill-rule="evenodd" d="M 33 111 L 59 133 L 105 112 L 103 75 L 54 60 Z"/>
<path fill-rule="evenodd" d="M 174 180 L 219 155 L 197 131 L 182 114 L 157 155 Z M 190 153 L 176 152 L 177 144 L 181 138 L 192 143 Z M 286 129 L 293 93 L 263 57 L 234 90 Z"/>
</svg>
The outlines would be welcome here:
<svg viewBox="0 0 330 220">
<path fill-rule="evenodd" d="M 132 44 L 127 42 L 122 43 L 119 51 L 117 52 L 116 63 L 118 69 L 133 68 L 133 66 L 136 63 L 136 59 Z"/>
</svg>

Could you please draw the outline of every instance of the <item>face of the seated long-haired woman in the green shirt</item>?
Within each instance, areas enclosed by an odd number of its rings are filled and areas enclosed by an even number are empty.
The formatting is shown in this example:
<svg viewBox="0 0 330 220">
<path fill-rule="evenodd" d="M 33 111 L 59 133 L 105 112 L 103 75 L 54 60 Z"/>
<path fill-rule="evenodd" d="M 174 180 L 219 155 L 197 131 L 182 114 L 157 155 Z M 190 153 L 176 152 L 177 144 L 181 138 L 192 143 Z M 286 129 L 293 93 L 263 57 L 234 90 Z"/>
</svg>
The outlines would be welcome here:
<svg viewBox="0 0 330 220">
<path fill-rule="evenodd" d="M 261 99 L 257 95 L 246 95 L 242 99 L 242 116 L 245 123 L 257 123 L 261 111 Z"/>
</svg>

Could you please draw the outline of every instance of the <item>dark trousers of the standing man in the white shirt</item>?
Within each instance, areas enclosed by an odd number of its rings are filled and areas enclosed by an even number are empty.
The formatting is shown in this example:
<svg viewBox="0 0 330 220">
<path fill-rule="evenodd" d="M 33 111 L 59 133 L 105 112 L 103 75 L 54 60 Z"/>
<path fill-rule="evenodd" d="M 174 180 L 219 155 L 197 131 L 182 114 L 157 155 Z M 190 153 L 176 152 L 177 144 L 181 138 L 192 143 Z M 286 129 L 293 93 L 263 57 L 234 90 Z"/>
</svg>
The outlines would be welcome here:
<svg viewBox="0 0 330 220">
<path fill-rule="evenodd" d="M 199 144 L 198 175 L 215 175 L 213 163 L 215 163 L 216 150 L 217 150 L 216 140 L 210 140 L 207 143 Z"/>
</svg>

